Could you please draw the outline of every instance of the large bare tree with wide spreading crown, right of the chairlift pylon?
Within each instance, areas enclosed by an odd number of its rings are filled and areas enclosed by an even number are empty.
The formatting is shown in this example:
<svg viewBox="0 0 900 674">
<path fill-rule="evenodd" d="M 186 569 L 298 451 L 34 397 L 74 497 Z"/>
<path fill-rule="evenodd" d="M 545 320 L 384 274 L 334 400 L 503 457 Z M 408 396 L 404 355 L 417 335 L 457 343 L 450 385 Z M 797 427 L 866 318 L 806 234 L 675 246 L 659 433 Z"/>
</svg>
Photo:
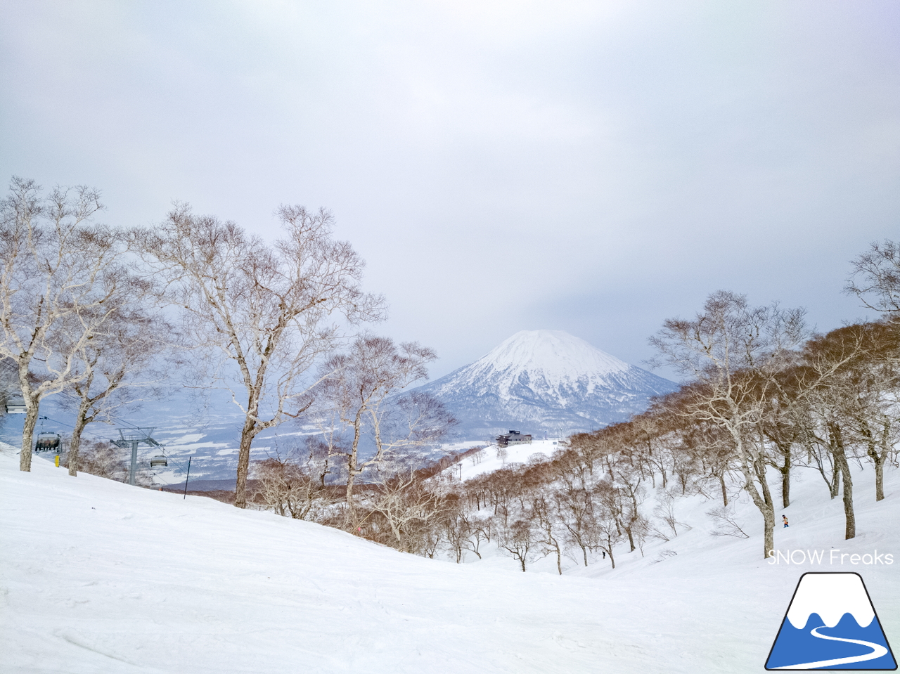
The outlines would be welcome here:
<svg viewBox="0 0 900 674">
<path fill-rule="evenodd" d="M 284 238 L 267 246 L 234 222 L 196 216 L 180 204 L 134 245 L 167 297 L 183 309 L 184 328 L 206 365 L 202 379 L 230 391 L 244 414 L 235 505 L 247 505 L 250 445 L 266 428 L 296 418 L 290 407 L 311 368 L 338 339 L 339 315 L 351 324 L 380 319 L 383 301 L 360 290 L 363 261 L 331 238 L 328 211 L 277 211 Z M 308 403 L 307 403 L 308 404 Z"/>
</svg>

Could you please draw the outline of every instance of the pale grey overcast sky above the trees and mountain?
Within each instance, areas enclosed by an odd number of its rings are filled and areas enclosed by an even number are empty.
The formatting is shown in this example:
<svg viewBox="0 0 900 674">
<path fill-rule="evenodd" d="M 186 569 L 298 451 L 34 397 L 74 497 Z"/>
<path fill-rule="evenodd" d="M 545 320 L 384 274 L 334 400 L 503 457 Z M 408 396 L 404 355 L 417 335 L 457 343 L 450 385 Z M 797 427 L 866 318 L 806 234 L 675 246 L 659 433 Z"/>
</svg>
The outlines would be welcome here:
<svg viewBox="0 0 900 674">
<path fill-rule="evenodd" d="M 433 376 L 536 328 L 641 364 L 717 289 L 826 330 L 900 238 L 900 3 L 0 0 L 11 175 L 325 206 Z"/>
</svg>

